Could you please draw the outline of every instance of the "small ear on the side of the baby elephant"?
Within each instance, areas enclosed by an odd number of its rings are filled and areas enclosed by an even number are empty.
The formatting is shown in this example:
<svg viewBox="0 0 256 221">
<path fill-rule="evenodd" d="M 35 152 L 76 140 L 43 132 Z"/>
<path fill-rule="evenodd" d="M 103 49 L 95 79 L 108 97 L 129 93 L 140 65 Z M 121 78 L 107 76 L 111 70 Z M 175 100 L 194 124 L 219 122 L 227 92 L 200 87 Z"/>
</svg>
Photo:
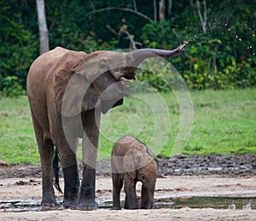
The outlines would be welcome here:
<svg viewBox="0 0 256 221">
<path fill-rule="evenodd" d="M 136 177 L 136 154 L 137 150 L 135 148 L 131 148 L 126 152 L 123 162 L 125 172 L 127 172 L 132 179 Z"/>
</svg>

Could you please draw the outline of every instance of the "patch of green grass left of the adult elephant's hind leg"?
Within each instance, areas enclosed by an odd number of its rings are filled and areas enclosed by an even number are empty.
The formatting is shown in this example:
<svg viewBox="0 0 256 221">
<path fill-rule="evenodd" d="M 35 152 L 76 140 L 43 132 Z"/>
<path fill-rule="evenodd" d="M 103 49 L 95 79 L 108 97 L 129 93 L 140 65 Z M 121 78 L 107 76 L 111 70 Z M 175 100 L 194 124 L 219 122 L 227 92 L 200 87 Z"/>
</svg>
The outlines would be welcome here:
<svg viewBox="0 0 256 221">
<path fill-rule="evenodd" d="M 39 162 L 26 96 L 0 98 L 0 160 L 11 164 Z"/>
</svg>

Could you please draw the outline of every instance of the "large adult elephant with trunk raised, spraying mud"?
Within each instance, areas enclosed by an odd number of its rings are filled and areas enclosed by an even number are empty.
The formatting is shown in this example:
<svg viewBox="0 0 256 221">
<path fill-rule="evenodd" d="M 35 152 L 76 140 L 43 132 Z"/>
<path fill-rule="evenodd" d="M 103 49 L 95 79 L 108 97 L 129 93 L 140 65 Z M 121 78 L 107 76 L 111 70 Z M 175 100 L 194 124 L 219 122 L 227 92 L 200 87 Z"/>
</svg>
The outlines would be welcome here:
<svg viewBox="0 0 256 221">
<path fill-rule="evenodd" d="M 40 55 L 27 76 L 27 96 L 32 112 L 43 176 L 42 206 L 54 206 L 52 180 L 54 146 L 64 175 L 64 206 L 96 209 L 96 148 L 101 113 L 129 96 L 125 81 L 135 78 L 136 67 L 152 56 L 174 56 L 173 50 L 138 49 L 120 53 L 95 51 L 89 55 L 57 47 Z M 83 138 L 83 180 L 79 189 L 76 160 L 78 137 Z"/>
</svg>

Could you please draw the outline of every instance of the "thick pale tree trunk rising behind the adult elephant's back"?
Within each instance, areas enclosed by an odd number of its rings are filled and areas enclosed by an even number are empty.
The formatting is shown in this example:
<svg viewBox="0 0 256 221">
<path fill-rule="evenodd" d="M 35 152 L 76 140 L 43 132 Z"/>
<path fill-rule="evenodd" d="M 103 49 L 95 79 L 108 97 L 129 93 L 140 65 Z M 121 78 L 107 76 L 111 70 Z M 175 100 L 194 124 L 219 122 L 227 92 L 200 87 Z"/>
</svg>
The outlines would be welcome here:
<svg viewBox="0 0 256 221">
<path fill-rule="evenodd" d="M 46 23 L 46 15 L 44 8 L 44 0 L 37 0 L 38 9 L 38 28 L 40 37 L 40 55 L 49 51 L 48 28 Z"/>
</svg>

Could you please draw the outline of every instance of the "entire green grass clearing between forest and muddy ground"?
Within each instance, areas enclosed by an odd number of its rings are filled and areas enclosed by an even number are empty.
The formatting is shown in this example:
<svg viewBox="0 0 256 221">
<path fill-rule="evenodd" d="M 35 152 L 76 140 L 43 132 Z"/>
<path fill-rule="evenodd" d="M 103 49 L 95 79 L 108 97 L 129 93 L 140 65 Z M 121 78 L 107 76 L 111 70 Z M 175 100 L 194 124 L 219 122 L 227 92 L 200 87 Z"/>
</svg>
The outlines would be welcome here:
<svg viewBox="0 0 256 221">
<path fill-rule="evenodd" d="M 190 96 L 194 112 L 188 142 L 177 142 L 180 111 L 172 93 L 139 94 L 102 115 L 98 159 L 109 159 L 113 142 L 126 134 L 138 137 L 161 157 L 256 154 L 256 89 L 191 91 Z M 182 131 L 183 137 L 186 130 Z M 175 142 L 180 145 L 172 152 Z M 39 162 L 26 96 L 0 98 L 0 160 Z"/>
</svg>

